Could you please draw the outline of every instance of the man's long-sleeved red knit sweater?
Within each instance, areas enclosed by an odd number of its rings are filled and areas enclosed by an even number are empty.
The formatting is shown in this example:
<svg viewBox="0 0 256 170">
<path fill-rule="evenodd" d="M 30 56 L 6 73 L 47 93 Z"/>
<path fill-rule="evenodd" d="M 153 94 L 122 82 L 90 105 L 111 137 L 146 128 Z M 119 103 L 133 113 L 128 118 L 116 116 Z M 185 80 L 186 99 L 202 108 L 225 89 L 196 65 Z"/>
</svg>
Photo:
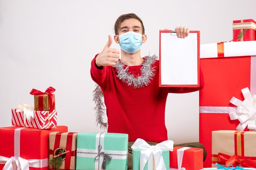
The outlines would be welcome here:
<svg viewBox="0 0 256 170">
<path fill-rule="evenodd" d="M 167 140 L 164 112 L 168 93 L 187 93 L 204 86 L 200 70 L 200 87 L 159 87 L 159 61 L 154 64 L 155 76 L 146 87 L 134 89 L 117 78 L 111 66 L 97 68 L 95 57 L 91 64 L 91 76 L 102 89 L 109 133 L 127 133 L 129 142 L 137 138 L 147 142 Z M 129 66 L 128 72 L 138 75 L 142 65 Z"/>
</svg>

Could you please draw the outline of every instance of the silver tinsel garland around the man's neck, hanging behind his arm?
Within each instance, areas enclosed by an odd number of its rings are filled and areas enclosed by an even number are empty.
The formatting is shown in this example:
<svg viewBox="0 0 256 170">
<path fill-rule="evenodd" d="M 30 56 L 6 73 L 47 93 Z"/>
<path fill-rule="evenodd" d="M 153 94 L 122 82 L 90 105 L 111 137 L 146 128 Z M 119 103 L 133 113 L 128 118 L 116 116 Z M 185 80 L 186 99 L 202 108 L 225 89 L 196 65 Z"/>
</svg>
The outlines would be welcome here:
<svg viewBox="0 0 256 170">
<path fill-rule="evenodd" d="M 157 59 L 156 55 L 153 56 L 146 56 L 144 62 L 142 63 L 142 67 L 140 69 L 141 75 L 135 77 L 133 74 L 129 73 L 129 66 L 124 69 L 125 63 L 118 61 L 115 66 L 113 66 L 117 70 L 117 77 L 122 81 L 125 82 L 127 85 L 133 85 L 134 88 L 141 88 L 147 86 L 150 83 L 150 80 L 155 75 L 155 67 L 153 67 L 153 63 L 155 63 Z M 103 102 L 103 93 L 101 91 L 101 87 L 96 85 L 93 93 L 93 101 L 95 103 L 95 107 L 93 108 L 96 117 L 96 124 L 101 129 L 107 129 L 108 123 L 103 122 L 103 116 L 105 112 L 105 106 Z"/>
</svg>

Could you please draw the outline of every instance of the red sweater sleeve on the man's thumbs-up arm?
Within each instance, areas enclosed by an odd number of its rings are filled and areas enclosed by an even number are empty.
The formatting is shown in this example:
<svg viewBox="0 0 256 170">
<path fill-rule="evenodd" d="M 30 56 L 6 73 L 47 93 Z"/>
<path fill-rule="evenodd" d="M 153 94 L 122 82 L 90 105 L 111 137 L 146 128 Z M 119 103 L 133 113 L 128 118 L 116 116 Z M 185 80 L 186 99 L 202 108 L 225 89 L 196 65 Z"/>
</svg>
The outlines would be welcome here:
<svg viewBox="0 0 256 170">
<path fill-rule="evenodd" d="M 97 54 L 98 55 L 98 54 Z M 92 59 L 91 63 L 91 77 L 92 80 L 97 83 L 101 88 L 106 88 L 107 80 L 108 80 L 108 67 L 97 67 L 95 63 L 95 58 L 97 55 Z"/>
</svg>

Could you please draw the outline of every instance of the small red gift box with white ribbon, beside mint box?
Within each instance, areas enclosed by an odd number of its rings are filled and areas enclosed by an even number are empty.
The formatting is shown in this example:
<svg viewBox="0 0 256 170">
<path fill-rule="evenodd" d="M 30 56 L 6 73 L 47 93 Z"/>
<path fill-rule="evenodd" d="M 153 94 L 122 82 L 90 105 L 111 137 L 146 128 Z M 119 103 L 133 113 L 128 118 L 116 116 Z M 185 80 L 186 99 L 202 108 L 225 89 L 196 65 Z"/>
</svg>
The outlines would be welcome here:
<svg viewBox="0 0 256 170">
<path fill-rule="evenodd" d="M 203 169 L 203 149 L 176 146 L 170 152 L 170 170 L 185 168 L 186 170 Z"/>
</svg>

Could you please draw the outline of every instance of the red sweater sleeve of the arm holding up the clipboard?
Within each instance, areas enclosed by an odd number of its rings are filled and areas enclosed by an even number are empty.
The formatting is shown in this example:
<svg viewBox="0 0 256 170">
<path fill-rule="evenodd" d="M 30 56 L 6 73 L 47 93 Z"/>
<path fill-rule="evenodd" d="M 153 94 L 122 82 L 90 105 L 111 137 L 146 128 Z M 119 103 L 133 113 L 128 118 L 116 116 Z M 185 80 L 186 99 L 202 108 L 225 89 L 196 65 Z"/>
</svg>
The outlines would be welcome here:
<svg viewBox="0 0 256 170">
<path fill-rule="evenodd" d="M 170 87 L 169 93 L 190 93 L 204 88 L 204 76 L 200 68 L 200 86 L 199 87 Z"/>
</svg>

